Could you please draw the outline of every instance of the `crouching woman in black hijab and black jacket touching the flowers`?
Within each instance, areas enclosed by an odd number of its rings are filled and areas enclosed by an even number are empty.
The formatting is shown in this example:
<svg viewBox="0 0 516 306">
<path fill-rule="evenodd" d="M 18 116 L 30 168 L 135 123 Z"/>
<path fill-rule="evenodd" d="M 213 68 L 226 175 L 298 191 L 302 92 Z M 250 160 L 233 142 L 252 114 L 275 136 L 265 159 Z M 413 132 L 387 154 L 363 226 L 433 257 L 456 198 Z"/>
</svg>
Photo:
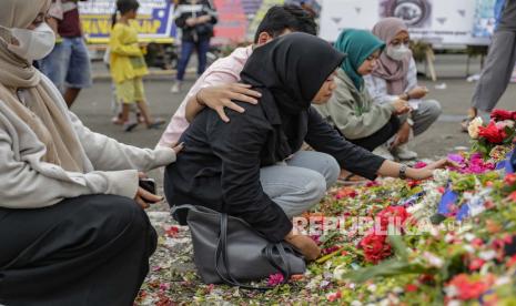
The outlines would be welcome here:
<svg viewBox="0 0 516 306">
<path fill-rule="evenodd" d="M 286 239 L 314 259 L 318 248 L 291 233 L 290 218 L 317 204 L 341 167 L 368 178 L 431 176 L 432 167 L 406 169 L 345 141 L 311 106 L 332 96 L 343 59 L 304 33 L 256 48 L 241 76 L 262 93 L 260 102 L 237 102 L 245 112 L 230 111 L 229 123 L 208 109 L 195 118 L 182 136 L 178 163 L 165 172 L 169 203 L 242 217 L 271 242 Z M 320 152 L 297 152 L 304 141 Z"/>
</svg>

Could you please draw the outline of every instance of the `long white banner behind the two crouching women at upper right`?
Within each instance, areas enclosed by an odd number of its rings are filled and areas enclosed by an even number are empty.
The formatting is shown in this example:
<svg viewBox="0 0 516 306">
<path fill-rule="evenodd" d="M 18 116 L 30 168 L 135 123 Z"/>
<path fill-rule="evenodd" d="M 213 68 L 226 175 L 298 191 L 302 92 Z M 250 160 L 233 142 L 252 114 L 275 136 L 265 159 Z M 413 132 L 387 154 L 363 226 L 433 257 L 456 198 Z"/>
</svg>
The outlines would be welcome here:
<svg viewBox="0 0 516 306">
<path fill-rule="evenodd" d="M 402 18 L 414 40 L 484 45 L 493 32 L 494 0 L 323 0 L 320 35 L 335 41 L 343 29 L 371 30 L 386 17 Z"/>
</svg>

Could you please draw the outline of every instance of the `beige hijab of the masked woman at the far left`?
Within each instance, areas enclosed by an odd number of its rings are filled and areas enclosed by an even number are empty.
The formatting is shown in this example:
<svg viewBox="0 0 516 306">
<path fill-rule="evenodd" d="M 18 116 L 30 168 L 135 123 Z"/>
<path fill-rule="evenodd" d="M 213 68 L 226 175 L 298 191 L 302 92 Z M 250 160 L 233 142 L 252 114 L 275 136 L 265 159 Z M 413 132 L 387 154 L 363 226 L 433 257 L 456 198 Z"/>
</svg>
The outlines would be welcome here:
<svg viewBox="0 0 516 306">
<path fill-rule="evenodd" d="M 0 26 L 26 29 L 51 0 L 1 0 Z M 39 72 L 27 60 L 7 49 L 8 33 L 0 31 L 0 103 L 23 120 L 45 145 L 43 161 L 67 171 L 84 172 L 81 145 L 67 115 L 41 84 Z M 26 90 L 26 105 L 17 94 Z"/>
</svg>

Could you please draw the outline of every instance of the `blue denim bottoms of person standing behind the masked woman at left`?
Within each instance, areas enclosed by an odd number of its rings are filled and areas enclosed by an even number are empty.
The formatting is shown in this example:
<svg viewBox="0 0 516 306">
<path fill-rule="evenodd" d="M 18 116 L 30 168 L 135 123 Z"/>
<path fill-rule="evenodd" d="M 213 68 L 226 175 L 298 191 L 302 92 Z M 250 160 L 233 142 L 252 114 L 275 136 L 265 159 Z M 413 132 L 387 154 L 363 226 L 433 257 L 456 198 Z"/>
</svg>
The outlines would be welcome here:
<svg viewBox="0 0 516 306">
<path fill-rule="evenodd" d="M 82 38 L 63 38 L 39 65 L 61 92 L 91 86 L 90 55 Z"/>
</svg>

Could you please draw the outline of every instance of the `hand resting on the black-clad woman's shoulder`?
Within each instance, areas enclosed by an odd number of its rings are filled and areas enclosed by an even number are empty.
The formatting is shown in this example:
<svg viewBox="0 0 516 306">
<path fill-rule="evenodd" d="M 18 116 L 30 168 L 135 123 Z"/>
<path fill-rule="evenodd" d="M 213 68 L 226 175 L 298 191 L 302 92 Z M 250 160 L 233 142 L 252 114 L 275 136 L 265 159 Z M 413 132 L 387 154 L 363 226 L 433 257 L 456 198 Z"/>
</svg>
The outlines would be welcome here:
<svg viewBox="0 0 516 306">
<path fill-rule="evenodd" d="M 222 121 L 230 122 L 230 119 L 224 112 L 224 108 L 229 108 L 239 113 L 243 113 L 245 111 L 232 100 L 256 104 L 256 99 L 262 96 L 260 92 L 251 90 L 250 88 L 251 85 L 241 83 L 204 88 L 198 93 L 198 102 L 215 110 Z"/>
</svg>

